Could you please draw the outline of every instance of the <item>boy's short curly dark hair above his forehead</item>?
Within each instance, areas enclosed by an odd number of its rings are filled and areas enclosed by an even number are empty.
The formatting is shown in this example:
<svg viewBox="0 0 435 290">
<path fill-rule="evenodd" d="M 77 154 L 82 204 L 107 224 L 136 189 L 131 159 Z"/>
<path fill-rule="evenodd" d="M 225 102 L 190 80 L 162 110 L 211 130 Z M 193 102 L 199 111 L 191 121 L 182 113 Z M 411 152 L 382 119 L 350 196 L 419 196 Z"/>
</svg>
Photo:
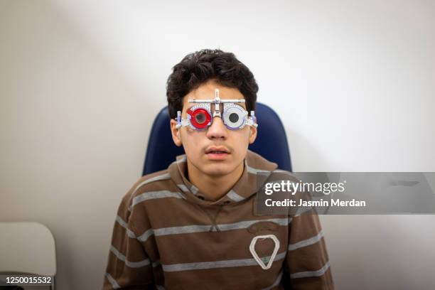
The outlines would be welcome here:
<svg viewBox="0 0 435 290">
<path fill-rule="evenodd" d="M 168 77 L 166 97 L 171 118 L 183 109 L 183 97 L 208 80 L 237 88 L 245 97 L 247 111 L 255 109 L 258 85 L 249 68 L 233 53 L 203 49 L 186 55 Z"/>
</svg>

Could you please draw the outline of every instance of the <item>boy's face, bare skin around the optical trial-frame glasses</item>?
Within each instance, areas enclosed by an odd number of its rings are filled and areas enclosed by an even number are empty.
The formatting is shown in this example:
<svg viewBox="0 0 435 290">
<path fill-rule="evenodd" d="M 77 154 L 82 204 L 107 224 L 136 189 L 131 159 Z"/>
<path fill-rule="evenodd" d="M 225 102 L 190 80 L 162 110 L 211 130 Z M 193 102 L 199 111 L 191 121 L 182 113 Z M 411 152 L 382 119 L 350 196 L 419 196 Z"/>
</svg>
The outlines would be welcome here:
<svg viewBox="0 0 435 290">
<path fill-rule="evenodd" d="M 236 88 L 224 87 L 210 80 L 184 97 L 181 117 L 186 118 L 186 111 L 195 105 L 189 103 L 189 99 L 212 100 L 216 88 L 219 89 L 222 100 L 244 99 Z M 238 104 L 246 109 L 245 103 Z M 213 113 L 215 105 L 212 104 L 211 108 Z M 252 144 L 257 136 L 257 129 L 252 126 L 237 130 L 227 129 L 220 117 L 213 118 L 210 127 L 203 131 L 193 130 L 190 127 L 176 129 L 176 124 L 176 120 L 172 119 L 172 138 L 177 146 L 183 145 L 188 166 L 194 166 L 208 176 L 225 176 L 240 168 L 247 154 L 248 145 Z"/>
</svg>

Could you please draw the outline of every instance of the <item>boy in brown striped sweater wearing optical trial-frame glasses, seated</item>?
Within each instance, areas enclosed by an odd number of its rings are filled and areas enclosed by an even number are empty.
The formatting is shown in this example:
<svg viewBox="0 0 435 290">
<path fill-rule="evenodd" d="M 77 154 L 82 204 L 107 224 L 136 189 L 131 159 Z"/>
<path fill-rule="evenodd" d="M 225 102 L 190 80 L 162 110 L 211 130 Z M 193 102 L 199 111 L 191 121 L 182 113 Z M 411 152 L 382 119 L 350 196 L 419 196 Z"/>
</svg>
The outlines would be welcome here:
<svg viewBox="0 0 435 290">
<path fill-rule="evenodd" d="M 257 172 L 277 169 L 247 150 L 257 91 L 222 50 L 173 68 L 171 132 L 186 155 L 122 199 L 104 289 L 333 289 L 317 215 L 254 213 Z"/>
</svg>

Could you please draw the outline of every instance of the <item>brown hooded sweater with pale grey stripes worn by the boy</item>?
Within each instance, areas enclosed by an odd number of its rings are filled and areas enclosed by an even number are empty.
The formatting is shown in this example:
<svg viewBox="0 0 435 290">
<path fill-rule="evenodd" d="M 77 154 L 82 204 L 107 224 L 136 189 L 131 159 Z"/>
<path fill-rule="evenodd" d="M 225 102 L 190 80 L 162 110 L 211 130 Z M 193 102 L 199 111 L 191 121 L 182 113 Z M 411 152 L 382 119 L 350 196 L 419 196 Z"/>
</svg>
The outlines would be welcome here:
<svg viewBox="0 0 435 290">
<path fill-rule="evenodd" d="M 276 167 L 248 151 L 242 177 L 216 201 L 186 179 L 186 156 L 140 178 L 119 205 L 103 289 L 333 289 L 317 215 L 254 215 L 257 172 Z M 267 270 L 249 251 L 258 235 L 279 240 Z M 267 264 L 274 242 L 254 249 Z"/>
</svg>

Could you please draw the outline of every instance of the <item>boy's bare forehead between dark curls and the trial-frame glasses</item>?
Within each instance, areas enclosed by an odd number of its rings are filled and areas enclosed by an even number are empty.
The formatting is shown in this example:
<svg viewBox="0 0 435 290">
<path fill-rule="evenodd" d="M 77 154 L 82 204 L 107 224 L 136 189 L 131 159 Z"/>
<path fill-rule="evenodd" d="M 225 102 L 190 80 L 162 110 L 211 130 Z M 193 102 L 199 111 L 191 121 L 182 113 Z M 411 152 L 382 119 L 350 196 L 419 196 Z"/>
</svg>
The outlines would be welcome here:
<svg viewBox="0 0 435 290">
<path fill-rule="evenodd" d="M 217 82 L 210 80 L 200 85 L 195 90 L 192 90 L 184 97 L 183 109 L 194 106 L 195 104 L 189 103 L 189 99 L 194 100 L 213 100 L 215 98 L 215 89 L 219 89 L 219 97 L 222 100 L 229 99 L 245 99 L 242 93 L 234 87 L 225 87 Z M 245 103 L 237 103 L 240 106 L 245 107 Z"/>
</svg>

